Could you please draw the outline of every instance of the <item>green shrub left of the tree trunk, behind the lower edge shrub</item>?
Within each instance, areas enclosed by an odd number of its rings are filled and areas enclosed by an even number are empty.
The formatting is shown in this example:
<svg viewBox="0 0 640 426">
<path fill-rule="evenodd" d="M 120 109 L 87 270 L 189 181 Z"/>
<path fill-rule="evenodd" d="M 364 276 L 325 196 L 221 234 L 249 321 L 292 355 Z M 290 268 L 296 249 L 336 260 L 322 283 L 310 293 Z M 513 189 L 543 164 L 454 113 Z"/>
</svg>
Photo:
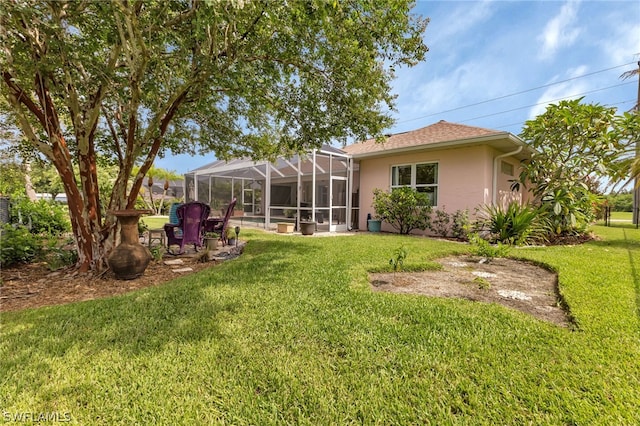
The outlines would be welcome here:
<svg viewBox="0 0 640 426">
<path fill-rule="evenodd" d="M 11 203 L 10 222 L 27 226 L 32 233 L 59 235 L 71 230 L 67 207 L 55 201 L 31 201 L 27 198 Z"/>
</svg>

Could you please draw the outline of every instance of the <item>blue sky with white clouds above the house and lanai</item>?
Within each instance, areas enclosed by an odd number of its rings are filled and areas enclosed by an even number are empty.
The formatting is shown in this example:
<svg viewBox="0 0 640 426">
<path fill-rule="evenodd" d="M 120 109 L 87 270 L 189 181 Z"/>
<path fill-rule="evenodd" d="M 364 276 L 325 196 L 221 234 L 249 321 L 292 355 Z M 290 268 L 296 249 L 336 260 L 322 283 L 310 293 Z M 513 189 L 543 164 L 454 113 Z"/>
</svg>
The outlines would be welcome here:
<svg viewBox="0 0 640 426">
<path fill-rule="evenodd" d="M 418 1 L 429 17 L 424 62 L 400 69 L 396 125 L 439 120 L 520 133 L 549 103 L 631 109 L 638 79 L 620 75 L 640 60 L 640 1 Z M 214 160 L 175 156 L 156 166 L 184 173 Z"/>
</svg>

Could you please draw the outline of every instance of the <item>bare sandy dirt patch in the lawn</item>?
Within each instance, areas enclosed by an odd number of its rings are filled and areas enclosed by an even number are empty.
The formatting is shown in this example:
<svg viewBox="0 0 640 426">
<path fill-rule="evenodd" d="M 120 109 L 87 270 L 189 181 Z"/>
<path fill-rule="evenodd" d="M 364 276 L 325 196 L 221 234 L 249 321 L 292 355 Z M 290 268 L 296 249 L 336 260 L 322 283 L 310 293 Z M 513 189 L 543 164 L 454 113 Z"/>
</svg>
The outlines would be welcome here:
<svg viewBox="0 0 640 426">
<path fill-rule="evenodd" d="M 442 270 L 371 273 L 374 291 L 456 297 L 499 303 L 562 327 L 572 326 L 558 293 L 557 275 L 530 262 L 509 258 L 446 257 Z"/>
</svg>

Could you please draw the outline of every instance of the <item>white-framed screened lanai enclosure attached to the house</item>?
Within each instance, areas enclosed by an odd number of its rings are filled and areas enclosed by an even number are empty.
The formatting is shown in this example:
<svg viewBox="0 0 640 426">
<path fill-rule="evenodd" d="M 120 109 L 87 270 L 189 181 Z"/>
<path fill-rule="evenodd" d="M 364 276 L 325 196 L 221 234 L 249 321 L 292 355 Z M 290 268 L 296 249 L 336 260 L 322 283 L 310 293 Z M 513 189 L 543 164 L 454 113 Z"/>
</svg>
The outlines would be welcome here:
<svg viewBox="0 0 640 426">
<path fill-rule="evenodd" d="M 356 184 L 354 185 L 354 182 Z M 237 199 L 242 222 L 274 229 L 278 223 L 316 223 L 318 232 L 358 227 L 357 164 L 343 151 L 323 146 L 276 162 L 218 160 L 185 174 L 186 201 L 202 201 L 212 215 Z"/>
</svg>

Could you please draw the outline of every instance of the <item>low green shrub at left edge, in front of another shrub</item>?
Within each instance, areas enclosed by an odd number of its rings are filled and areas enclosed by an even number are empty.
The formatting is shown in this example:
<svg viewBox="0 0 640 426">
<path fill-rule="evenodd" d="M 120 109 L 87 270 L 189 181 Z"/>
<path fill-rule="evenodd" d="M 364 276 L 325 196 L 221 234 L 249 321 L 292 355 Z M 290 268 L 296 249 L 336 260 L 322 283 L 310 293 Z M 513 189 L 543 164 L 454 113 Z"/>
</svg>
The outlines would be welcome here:
<svg viewBox="0 0 640 426">
<path fill-rule="evenodd" d="M 42 254 L 43 239 L 24 226 L 0 228 L 0 266 L 30 262 Z"/>
</svg>

